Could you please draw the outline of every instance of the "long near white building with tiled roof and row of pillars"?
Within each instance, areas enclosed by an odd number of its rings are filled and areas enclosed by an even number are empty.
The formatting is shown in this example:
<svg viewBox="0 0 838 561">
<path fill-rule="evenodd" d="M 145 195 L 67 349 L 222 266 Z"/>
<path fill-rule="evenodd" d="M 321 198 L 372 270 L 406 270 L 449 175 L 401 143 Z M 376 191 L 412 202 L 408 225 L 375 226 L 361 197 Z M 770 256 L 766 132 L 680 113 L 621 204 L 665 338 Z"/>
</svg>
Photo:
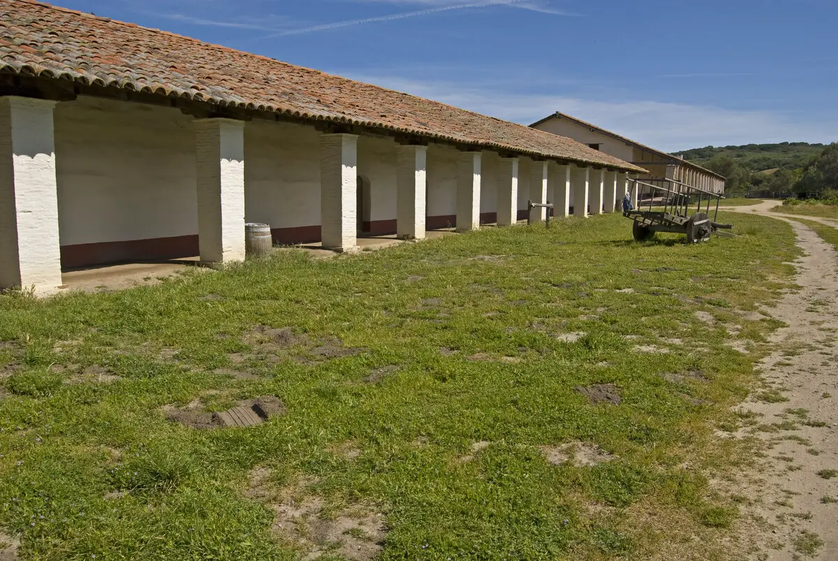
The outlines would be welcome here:
<svg viewBox="0 0 838 561">
<path fill-rule="evenodd" d="M 644 169 L 530 127 L 33 0 L 0 0 L 0 288 L 274 242 L 613 210 Z M 583 205 L 580 209 L 586 209 Z M 585 216 L 579 210 L 577 214 Z M 533 218 L 544 218 L 533 210 Z"/>
</svg>

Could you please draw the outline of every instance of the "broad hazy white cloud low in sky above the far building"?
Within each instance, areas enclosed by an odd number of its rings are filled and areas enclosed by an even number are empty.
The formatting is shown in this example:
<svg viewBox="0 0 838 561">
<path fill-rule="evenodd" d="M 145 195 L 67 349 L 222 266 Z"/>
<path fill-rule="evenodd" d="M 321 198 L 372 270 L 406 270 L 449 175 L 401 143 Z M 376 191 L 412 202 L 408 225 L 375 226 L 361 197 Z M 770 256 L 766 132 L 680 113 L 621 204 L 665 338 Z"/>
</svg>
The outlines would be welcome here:
<svg viewBox="0 0 838 561">
<path fill-rule="evenodd" d="M 561 111 L 660 150 L 773 142 L 838 140 L 838 114 L 806 120 L 781 112 L 746 111 L 670 101 L 592 100 L 577 96 L 498 91 L 477 86 L 354 75 L 416 96 L 442 101 L 512 122 L 530 124 Z"/>
</svg>

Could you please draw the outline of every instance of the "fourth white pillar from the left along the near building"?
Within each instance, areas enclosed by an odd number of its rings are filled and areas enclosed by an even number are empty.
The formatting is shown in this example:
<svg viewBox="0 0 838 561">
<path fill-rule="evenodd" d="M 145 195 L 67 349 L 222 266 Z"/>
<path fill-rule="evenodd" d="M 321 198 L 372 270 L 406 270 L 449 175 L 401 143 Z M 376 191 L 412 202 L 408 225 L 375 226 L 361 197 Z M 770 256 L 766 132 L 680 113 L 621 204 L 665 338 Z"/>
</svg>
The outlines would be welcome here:
<svg viewBox="0 0 838 561">
<path fill-rule="evenodd" d="M 396 147 L 396 235 L 425 238 L 427 146 Z"/>
</svg>

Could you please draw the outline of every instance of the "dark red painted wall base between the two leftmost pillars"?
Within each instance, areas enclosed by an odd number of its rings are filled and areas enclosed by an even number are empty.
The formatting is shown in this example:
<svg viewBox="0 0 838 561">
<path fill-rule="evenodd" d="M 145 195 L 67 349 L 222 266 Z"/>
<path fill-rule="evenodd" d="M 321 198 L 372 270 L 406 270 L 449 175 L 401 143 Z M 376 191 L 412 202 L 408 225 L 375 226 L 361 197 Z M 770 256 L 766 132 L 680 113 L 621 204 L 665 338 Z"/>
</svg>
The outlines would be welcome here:
<svg viewBox="0 0 838 561">
<path fill-rule="evenodd" d="M 61 268 L 129 261 L 157 261 L 198 255 L 198 236 L 156 237 L 127 242 L 81 243 L 61 247 Z"/>
</svg>

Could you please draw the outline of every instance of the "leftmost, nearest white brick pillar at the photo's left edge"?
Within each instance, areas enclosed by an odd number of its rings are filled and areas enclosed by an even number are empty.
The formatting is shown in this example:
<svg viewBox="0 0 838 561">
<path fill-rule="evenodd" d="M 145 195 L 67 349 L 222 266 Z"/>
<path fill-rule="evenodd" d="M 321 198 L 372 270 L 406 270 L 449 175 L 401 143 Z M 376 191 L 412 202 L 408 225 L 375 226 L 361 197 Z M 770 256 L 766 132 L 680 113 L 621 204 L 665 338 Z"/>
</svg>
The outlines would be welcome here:
<svg viewBox="0 0 838 561">
<path fill-rule="evenodd" d="M 54 106 L 0 97 L 0 288 L 61 286 Z"/>
</svg>

